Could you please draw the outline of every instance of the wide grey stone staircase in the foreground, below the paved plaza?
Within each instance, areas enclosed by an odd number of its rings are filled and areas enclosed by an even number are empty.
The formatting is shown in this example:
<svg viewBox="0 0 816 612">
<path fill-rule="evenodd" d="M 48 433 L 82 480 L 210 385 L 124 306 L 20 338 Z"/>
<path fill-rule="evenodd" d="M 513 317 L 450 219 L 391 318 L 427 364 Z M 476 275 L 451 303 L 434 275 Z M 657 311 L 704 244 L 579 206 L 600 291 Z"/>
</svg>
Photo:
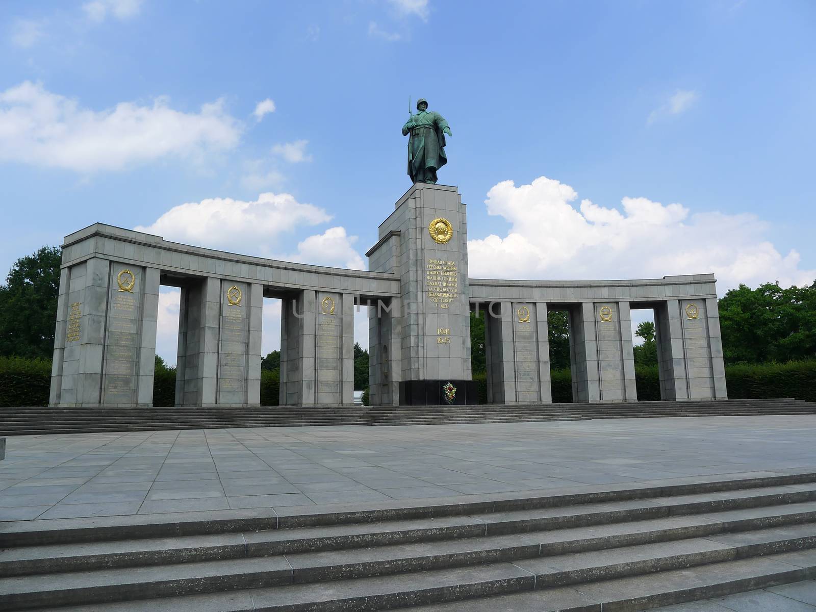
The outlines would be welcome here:
<svg viewBox="0 0 816 612">
<path fill-rule="evenodd" d="M 816 473 L 674 482 L 7 522 L 0 610 L 634 612 L 816 576 Z"/>
</svg>

